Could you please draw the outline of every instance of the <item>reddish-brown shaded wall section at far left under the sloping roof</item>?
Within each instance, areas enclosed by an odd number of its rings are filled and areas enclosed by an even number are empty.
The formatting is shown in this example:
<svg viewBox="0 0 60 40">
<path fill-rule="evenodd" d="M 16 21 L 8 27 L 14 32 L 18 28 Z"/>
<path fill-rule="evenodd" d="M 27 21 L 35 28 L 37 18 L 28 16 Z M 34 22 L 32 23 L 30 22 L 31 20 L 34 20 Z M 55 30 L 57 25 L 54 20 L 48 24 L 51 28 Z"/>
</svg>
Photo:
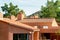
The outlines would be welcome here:
<svg viewBox="0 0 60 40">
<path fill-rule="evenodd" d="M 0 22 L 0 40 L 8 40 L 8 25 Z"/>
</svg>

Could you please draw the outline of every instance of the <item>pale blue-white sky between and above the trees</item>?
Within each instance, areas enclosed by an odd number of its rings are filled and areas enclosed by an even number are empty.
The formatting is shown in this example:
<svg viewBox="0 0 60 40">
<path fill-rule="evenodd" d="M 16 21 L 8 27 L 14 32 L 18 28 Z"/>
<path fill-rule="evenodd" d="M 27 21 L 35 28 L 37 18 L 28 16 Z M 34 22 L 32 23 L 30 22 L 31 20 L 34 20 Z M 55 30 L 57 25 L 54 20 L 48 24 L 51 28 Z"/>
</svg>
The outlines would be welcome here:
<svg viewBox="0 0 60 40">
<path fill-rule="evenodd" d="M 30 15 L 40 10 L 41 5 L 45 5 L 47 0 L 0 0 L 0 12 L 2 12 L 1 6 L 4 5 L 4 3 L 9 4 L 10 2 L 18 5 L 20 9 L 23 9 L 26 15 Z"/>
</svg>

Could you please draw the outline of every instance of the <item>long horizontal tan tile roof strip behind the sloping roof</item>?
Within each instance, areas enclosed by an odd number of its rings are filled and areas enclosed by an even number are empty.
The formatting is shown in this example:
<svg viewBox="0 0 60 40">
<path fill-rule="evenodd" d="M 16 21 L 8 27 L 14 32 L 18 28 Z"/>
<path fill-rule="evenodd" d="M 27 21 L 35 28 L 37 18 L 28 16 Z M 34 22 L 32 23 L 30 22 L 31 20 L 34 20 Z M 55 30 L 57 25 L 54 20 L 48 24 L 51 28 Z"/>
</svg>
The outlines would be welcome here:
<svg viewBox="0 0 60 40">
<path fill-rule="evenodd" d="M 42 19 L 23 19 L 20 22 L 53 22 L 54 18 L 42 18 Z"/>
</svg>

